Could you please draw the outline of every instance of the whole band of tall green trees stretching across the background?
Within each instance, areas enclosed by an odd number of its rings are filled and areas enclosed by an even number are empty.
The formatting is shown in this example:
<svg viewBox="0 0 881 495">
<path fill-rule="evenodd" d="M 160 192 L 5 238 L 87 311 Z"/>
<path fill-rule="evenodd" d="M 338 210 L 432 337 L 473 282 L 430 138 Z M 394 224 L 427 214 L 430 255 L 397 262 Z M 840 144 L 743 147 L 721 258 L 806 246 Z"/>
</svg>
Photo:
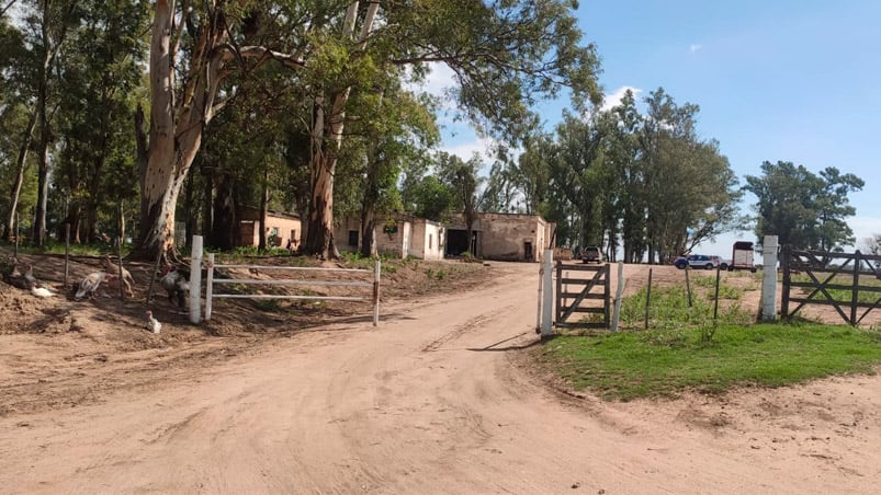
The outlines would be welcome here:
<svg viewBox="0 0 881 495">
<path fill-rule="evenodd" d="M 8 0 L 2 237 L 27 226 L 43 245 L 67 229 L 72 242 L 112 232 L 155 258 L 173 252 L 176 220 L 188 239 L 234 246 L 230 226 L 253 207 L 298 214 L 302 250 L 332 257 L 335 218 L 361 218 L 369 255 L 395 211 L 461 214 L 468 229 L 477 211 L 510 211 L 556 222 L 557 244 L 663 263 L 743 227 L 743 189 L 719 143 L 699 137 L 697 105 L 658 89 L 642 112 L 632 93 L 598 110 L 599 59 L 574 8 Z M 445 100 L 416 90 L 437 65 L 453 73 Z M 546 133 L 534 104 L 564 88 L 572 110 Z M 498 143 L 493 163 L 437 151 L 441 105 Z M 823 177 L 824 233 L 804 242 L 835 244 L 852 212 L 829 200 L 846 205 L 861 184 Z"/>
</svg>

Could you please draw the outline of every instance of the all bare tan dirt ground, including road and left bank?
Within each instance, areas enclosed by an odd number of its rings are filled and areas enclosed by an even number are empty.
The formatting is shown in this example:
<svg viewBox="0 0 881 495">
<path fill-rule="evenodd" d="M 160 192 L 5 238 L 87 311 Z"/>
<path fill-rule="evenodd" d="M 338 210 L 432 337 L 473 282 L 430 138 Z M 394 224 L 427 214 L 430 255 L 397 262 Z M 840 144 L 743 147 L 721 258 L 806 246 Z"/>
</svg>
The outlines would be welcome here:
<svg viewBox="0 0 881 495">
<path fill-rule="evenodd" d="M 29 261 L 60 288 L 61 258 Z M 156 289 L 155 335 L 146 265 L 128 301 L 0 284 L 0 493 L 877 490 L 878 376 L 601 402 L 530 366 L 538 265 L 463 265 L 384 275 L 377 327 L 369 308 L 306 302 L 191 325 Z M 635 290 L 645 267 L 625 277 Z"/>
</svg>

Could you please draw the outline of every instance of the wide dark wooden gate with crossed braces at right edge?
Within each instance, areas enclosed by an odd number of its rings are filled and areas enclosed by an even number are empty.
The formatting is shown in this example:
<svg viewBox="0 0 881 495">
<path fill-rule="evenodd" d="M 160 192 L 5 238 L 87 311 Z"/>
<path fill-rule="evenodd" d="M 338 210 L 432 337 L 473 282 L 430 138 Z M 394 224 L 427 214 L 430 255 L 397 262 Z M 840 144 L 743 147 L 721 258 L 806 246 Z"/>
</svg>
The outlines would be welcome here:
<svg viewBox="0 0 881 495">
<path fill-rule="evenodd" d="M 859 251 L 804 251 L 788 245 L 780 254 L 780 312 L 784 319 L 791 319 L 805 304 L 827 304 L 856 326 L 871 310 L 881 308 L 881 256 Z"/>
</svg>

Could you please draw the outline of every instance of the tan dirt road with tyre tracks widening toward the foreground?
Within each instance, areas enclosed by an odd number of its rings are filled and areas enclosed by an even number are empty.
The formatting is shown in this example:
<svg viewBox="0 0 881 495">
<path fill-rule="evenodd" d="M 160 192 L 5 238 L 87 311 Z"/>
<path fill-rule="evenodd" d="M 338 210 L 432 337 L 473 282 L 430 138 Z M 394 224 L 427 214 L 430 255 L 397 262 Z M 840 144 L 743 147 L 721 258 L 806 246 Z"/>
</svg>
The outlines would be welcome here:
<svg viewBox="0 0 881 495">
<path fill-rule="evenodd" d="M 519 366 L 538 341 L 538 266 L 496 269 L 502 284 L 385 308 L 376 330 L 334 325 L 153 393 L 0 418 L 0 493 L 877 490 L 877 377 L 573 398 Z"/>
</svg>

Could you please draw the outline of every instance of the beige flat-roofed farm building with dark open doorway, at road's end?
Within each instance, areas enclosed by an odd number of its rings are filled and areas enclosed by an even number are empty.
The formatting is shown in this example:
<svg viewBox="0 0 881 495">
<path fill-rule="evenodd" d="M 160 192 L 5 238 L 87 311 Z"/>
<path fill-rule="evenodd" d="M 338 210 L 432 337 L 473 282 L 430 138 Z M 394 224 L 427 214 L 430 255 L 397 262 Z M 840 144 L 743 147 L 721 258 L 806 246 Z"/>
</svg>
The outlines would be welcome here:
<svg viewBox="0 0 881 495">
<path fill-rule="evenodd" d="M 538 215 L 477 214 L 471 239 L 465 220 L 458 216 L 447 230 L 447 256 L 472 252 L 499 261 L 540 262 L 550 245 L 555 225 Z"/>
</svg>

